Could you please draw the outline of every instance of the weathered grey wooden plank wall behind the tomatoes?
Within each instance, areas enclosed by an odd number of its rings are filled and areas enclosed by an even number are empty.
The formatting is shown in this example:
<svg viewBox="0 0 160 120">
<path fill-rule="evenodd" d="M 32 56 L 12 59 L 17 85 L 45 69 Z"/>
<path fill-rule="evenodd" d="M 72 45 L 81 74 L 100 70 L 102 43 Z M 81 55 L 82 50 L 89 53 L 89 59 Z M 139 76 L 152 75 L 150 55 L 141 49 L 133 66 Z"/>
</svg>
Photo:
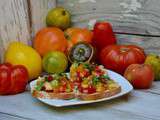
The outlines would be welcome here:
<svg viewBox="0 0 160 120">
<path fill-rule="evenodd" d="M 107 20 L 120 44 L 137 44 L 147 53 L 160 54 L 160 0 L 1 0 L 1 61 L 11 41 L 31 45 L 35 33 L 45 26 L 48 10 L 55 6 L 67 8 L 75 26 Z"/>
</svg>

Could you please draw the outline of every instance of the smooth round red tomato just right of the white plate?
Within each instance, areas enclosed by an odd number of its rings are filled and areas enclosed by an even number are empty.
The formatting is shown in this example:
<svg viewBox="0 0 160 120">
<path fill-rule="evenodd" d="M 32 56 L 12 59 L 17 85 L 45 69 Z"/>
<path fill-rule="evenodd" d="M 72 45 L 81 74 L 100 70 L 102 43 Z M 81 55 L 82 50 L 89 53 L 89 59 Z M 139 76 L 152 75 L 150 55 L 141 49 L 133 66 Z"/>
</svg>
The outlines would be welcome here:
<svg viewBox="0 0 160 120">
<path fill-rule="evenodd" d="M 132 64 L 126 69 L 124 77 L 129 80 L 134 88 L 147 89 L 152 85 L 154 72 L 150 65 Z"/>
</svg>

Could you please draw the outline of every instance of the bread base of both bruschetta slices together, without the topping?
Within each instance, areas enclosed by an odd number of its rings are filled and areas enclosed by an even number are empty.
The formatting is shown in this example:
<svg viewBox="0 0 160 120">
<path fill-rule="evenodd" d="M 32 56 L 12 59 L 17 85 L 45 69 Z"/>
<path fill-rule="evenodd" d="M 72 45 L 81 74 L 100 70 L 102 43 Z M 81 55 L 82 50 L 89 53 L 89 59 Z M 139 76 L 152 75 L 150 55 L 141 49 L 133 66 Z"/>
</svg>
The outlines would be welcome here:
<svg viewBox="0 0 160 120">
<path fill-rule="evenodd" d="M 73 99 L 78 98 L 80 100 L 97 100 L 101 98 L 111 97 L 121 92 L 121 87 L 117 84 L 116 87 L 106 90 L 104 92 L 96 92 L 93 94 L 85 94 L 85 93 L 53 93 L 53 92 L 45 92 L 45 91 L 37 91 L 33 90 L 32 96 L 36 98 L 44 98 L 44 99 Z"/>
</svg>

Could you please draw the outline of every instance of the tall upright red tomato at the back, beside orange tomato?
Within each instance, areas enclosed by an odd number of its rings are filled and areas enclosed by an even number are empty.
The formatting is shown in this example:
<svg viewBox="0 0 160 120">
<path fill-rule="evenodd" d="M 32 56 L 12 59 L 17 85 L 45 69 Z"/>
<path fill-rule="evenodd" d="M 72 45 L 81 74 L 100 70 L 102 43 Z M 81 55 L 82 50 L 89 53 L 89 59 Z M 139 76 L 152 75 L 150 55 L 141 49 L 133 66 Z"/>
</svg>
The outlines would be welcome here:
<svg viewBox="0 0 160 120">
<path fill-rule="evenodd" d="M 108 45 L 116 44 L 116 37 L 110 23 L 97 22 L 95 24 L 93 30 L 93 44 L 98 50 Z"/>
</svg>

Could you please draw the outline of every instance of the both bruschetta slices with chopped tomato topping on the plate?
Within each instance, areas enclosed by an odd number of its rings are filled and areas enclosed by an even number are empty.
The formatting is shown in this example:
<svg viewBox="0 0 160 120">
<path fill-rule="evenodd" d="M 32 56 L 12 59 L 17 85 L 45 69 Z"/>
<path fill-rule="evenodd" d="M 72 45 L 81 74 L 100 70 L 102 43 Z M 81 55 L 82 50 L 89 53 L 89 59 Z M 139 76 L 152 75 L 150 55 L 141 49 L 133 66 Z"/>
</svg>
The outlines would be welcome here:
<svg viewBox="0 0 160 120">
<path fill-rule="evenodd" d="M 70 77 L 70 78 L 68 78 Z M 32 95 L 37 98 L 96 100 L 118 94 L 121 86 L 110 79 L 103 66 L 74 63 L 66 73 L 39 77 Z"/>
</svg>

